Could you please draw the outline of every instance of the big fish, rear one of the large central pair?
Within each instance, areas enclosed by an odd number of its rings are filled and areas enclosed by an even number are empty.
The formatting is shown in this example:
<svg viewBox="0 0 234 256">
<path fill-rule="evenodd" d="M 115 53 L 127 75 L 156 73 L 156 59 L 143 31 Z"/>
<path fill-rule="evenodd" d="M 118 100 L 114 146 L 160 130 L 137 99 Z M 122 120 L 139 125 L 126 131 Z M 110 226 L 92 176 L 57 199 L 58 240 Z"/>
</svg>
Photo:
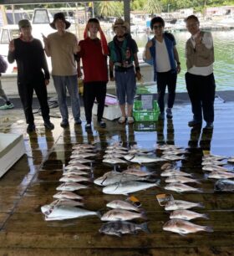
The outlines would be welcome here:
<svg viewBox="0 0 234 256">
<path fill-rule="evenodd" d="M 94 183 L 99 186 L 108 186 L 119 182 L 135 182 L 146 181 L 147 177 L 139 177 L 131 174 L 122 174 L 120 172 L 106 172 L 104 176 L 94 180 Z"/>
</svg>

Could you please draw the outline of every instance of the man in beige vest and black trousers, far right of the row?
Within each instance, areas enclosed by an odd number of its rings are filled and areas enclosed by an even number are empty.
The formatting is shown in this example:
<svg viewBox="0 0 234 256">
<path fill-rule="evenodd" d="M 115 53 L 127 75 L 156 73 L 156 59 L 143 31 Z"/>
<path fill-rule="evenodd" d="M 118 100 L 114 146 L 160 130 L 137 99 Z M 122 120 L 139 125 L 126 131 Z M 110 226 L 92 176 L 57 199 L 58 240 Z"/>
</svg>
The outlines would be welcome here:
<svg viewBox="0 0 234 256">
<path fill-rule="evenodd" d="M 214 46 L 210 32 L 201 31 L 195 15 L 186 18 L 191 38 L 186 42 L 186 88 L 191 100 L 193 119 L 189 126 L 201 125 L 213 129 L 216 83 L 213 74 Z M 203 116 L 203 118 L 202 118 Z"/>
</svg>

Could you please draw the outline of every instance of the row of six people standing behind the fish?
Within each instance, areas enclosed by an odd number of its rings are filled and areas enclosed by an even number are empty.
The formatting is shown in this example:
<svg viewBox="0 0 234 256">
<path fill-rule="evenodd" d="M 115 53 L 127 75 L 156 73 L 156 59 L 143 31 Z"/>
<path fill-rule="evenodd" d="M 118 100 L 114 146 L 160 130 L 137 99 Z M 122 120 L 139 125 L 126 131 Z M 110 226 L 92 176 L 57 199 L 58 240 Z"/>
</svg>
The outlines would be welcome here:
<svg viewBox="0 0 234 256">
<path fill-rule="evenodd" d="M 104 100 L 108 80 L 115 81 L 116 95 L 119 100 L 120 124 L 134 123 L 132 115 L 136 92 L 136 79 L 141 79 L 137 57 L 138 47 L 131 38 L 129 25 L 121 18 L 113 24 L 114 38 L 107 44 L 99 20 L 90 18 L 84 30 L 84 40 L 78 41 L 73 33 L 67 31 L 70 23 L 63 13 L 53 16 L 50 26 L 56 30 L 48 37 L 43 36 L 42 43 L 32 36 L 32 26 L 27 19 L 19 21 L 20 37 L 9 44 L 8 62 L 16 60 L 18 64 L 18 93 L 28 123 L 28 132 L 35 131 L 32 100 L 33 90 L 38 96 L 44 126 L 52 130 L 50 122 L 46 86 L 50 74 L 45 54 L 51 57 L 52 77 L 58 94 L 58 106 L 62 116 L 60 125 L 69 125 L 69 111 L 66 100 L 68 90 L 74 124 L 80 125 L 80 102 L 78 77 L 82 77 L 81 61 L 84 72 L 84 112 L 86 131 L 92 128 L 92 109 L 94 100 L 98 103 L 97 121 L 105 128 L 103 120 Z M 191 99 L 193 119 L 189 125 L 199 125 L 202 116 L 206 128 L 213 128 L 215 81 L 213 75 L 214 48 L 211 33 L 199 28 L 199 20 L 191 15 L 186 18 L 186 27 L 191 38 L 186 42 L 186 88 Z M 175 38 L 164 31 L 165 22 L 160 17 L 152 18 L 150 28 L 154 37 L 145 46 L 145 61 L 153 66 L 154 78 L 158 90 L 160 119 L 172 118 L 175 101 L 177 74 L 181 71 L 179 54 Z M 99 37 L 98 37 L 99 33 Z M 45 54 L 44 54 L 45 53 Z M 107 59 L 109 56 L 109 69 Z M 109 70 L 109 74 L 108 74 Z M 168 89 L 167 108 L 165 110 L 165 90 Z"/>
</svg>

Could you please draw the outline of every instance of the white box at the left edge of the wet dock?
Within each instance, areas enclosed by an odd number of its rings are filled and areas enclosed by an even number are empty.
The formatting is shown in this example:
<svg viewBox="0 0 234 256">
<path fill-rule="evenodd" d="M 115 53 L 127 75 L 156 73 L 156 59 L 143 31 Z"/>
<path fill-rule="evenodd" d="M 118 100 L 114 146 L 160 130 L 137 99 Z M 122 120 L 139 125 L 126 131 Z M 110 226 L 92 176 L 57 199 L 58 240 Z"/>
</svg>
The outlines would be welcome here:
<svg viewBox="0 0 234 256">
<path fill-rule="evenodd" d="M 25 154 L 23 135 L 0 133 L 0 177 Z"/>
</svg>

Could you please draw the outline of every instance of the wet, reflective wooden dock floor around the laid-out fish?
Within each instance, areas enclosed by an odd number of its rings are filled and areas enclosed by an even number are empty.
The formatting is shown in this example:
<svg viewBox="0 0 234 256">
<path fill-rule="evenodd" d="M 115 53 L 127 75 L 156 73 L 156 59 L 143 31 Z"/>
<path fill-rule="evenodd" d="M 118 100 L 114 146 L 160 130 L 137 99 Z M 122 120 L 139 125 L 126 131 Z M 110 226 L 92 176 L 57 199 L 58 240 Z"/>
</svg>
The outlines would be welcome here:
<svg viewBox="0 0 234 256">
<path fill-rule="evenodd" d="M 0 180 L 0 255 L 232 255 L 233 254 L 233 193 L 214 192 L 214 180 L 207 179 L 201 170 L 202 151 L 233 156 L 234 122 L 233 102 L 216 101 L 216 121 L 213 131 L 202 127 L 191 129 L 191 106 L 175 105 L 173 120 L 154 124 L 119 125 L 107 121 L 107 129 L 96 126 L 93 132 L 74 126 L 59 126 L 59 119 L 52 118 L 53 131 L 45 131 L 43 120 L 36 117 L 36 133 L 28 136 L 22 110 L 1 112 L 0 132 L 23 133 L 27 155 L 23 156 Z M 148 125 L 148 126 L 147 126 Z M 203 125 L 204 126 L 204 125 Z M 98 217 L 74 218 L 64 221 L 45 222 L 40 207 L 53 201 L 63 165 L 68 164 L 72 146 L 77 143 L 95 143 L 94 178 L 113 170 L 102 163 L 107 145 L 122 141 L 130 147 L 137 143 L 152 148 L 156 143 L 175 144 L 188 149 L 182 161 L 176 165 L 183 172 L 193 173 L 201 184 L 201 193 L 171 192 L 175 199 L 202 202 L 205 208 L 197 212 L 207 213 L 209 219 L 197 219 L 193 223 L 214 228 L 213 233 L 194 233 L 181 236 L 166 232 L 163 224 L 169 220 L 168 212 L 160 207 L 155 195 L 168 192 L 162 179 L 160 187 L 135 192 L 148 217 L 150 233 L 123 235 L 122 238 L 99 233 L 102 222 Z M 156 151 L 160 156 L 160 152 Z M 160 177 L 162 163 L 145 164 L 145 169 Z M 129 165 L 117 166 L 124 170 Z M 233 169 L 233 166 L 231 167 Z M 100 187 L 89 185 L 79 195 L 84 196 L 85 208 L 106 212 L 106 203 L 125 196 L 103 194 Z M 135 223 L 140 223 L 136 221 Z"/>
</svg>

